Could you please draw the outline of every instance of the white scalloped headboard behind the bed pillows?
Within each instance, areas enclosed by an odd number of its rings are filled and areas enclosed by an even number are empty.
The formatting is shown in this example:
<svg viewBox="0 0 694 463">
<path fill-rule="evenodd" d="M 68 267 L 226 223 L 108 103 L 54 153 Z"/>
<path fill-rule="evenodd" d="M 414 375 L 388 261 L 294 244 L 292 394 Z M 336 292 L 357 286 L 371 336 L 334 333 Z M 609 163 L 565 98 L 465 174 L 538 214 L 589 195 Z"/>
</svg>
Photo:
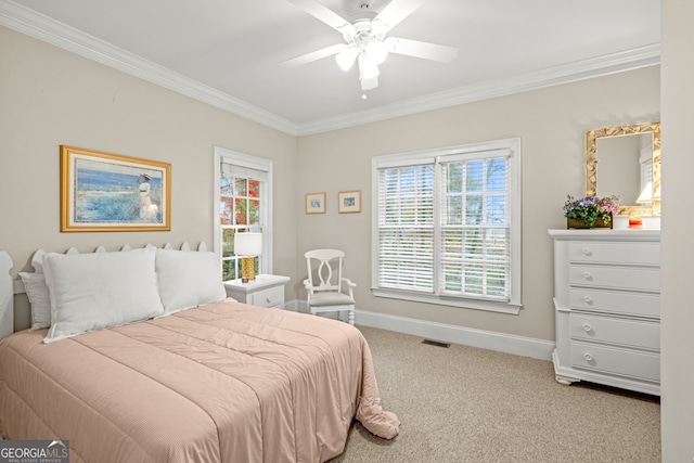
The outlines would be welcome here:
<svg viewBox="0 0 694 463">
<path fill-rule="evenodd" d="M 147 244 L 144 247 L 156 247 L 152 244 Z M 170 243 L 167 243 L 163 246 L 164 249 L 174 249 L 174 246 Z M 129 245 L 125 245 L 120 250 L 129 250 L 131 247 Z M 183 243 L 180 247 L 181 250 L 198 250 L 206 252 L 207 245 L 204 242 L 201 242 L 197 246 L 197 249 L 191 249 L 191 246 L 188 243 Z M 104 246 L 99 246 L 94 253 L 105 253 L 106 249 Z M 38 249 L 34 253 L 31 258 L 31 267 L 34 267 L 36 273 L 43 273 L 42 269 L 42 257 L 46 254 L 43 249 Z M 70 247 L 65 254 L 78 254 L 77 248 Z M 28 317 L 27 313 L 24 313 L 24 308 L 22 305 L 18 305 L 15 309 L 14 307 L 14 295 L 25 293 L 24 283 L 18 278 L 13 280 L 10 270 L 13 267 L 12 259 L 5 252 L 0 252 L 0 339 L 11 335 L 14 332 L 14 313 L 15 310 L 20 310 L 17 313 L 17 320 L 23 320 L 23 318 Z M 22 322 L 20 322 L 22 323 Z"/>
</svg>

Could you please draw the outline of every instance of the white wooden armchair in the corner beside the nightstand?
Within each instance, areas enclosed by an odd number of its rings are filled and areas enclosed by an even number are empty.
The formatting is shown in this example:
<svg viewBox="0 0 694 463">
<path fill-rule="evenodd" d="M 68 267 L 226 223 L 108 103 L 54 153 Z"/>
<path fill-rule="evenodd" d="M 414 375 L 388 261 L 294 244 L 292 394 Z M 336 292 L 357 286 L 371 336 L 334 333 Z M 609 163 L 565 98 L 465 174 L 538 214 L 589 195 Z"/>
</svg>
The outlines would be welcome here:
<svg viewBox="0 0 694 463">
<path fill-rule="evenodd" d="M 349 324 L 355 324 L 355 296 L 357 286 L 343 278 L 345 253 L 338 249 L 313 249 L 304 255 L 308 278 L 304 286 L 308 291 L 308 307 L 312 314 L 319 312 L 348 311 Z"/>
</svg>

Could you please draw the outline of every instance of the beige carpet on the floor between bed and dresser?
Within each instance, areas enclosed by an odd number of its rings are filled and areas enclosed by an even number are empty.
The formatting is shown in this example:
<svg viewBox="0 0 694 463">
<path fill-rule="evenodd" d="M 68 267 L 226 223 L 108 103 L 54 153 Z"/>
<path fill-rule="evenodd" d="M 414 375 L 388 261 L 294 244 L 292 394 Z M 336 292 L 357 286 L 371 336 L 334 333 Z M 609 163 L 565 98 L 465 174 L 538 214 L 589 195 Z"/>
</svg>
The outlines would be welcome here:
<svg viewBox="0 0 694 463">
<path fill-rule="evenodd" d="M 659 398 L 554 381 L 552 363 L 359 326 L 400 435 L 359 423 L 337 462 L 659 462 Z"/>
</svg>

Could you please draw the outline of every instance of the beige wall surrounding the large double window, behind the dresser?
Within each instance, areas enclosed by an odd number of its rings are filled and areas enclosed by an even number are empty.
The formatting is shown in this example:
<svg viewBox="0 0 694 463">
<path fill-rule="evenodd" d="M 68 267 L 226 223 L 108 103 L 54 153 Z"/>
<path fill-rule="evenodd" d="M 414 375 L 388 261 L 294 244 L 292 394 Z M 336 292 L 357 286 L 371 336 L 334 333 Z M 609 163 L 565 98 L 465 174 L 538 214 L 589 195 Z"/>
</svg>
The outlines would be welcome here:
<svg viewBox="0 0 694 463">
<path fill-rule="evenodd" d="M 587 129 L 659 120 L 659 69 L 640 70 L 551 87 L 445 110 L 399 117 L 299 139 L 303 194 L 327 192 L 324 215 L 298 222 L 298 254 L 313 247 L 347 253 L 357 283 L 357 307 L 471 329 L 554 339 L 551 228 L 566 228 L 567 194 L 584 192 Z M 523 303 L 518 316 L 375 298 L 371 285 L 371 159 L 519 137 L 523 144 Z M 337 192 L 362 191 L 361 214 L 337 214 Z M 617 194 L 618 192 L 614 192 Z M 301 273 L 303 262 L 297 262 Z"/>
</svg>

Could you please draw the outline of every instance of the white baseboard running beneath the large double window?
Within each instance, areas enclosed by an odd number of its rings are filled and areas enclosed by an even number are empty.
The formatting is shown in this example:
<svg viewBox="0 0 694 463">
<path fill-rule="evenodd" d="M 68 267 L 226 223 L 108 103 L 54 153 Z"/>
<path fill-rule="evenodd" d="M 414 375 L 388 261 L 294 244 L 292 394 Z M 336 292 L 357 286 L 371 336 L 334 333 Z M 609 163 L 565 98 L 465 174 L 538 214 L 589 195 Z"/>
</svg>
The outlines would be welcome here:
<svg viewBox="0 0 694 463">
<path fill-rule="evenodd" d="M 308 312 L 305 300 L 293 300 L 285 304 L 284 308 L 295 312 Z M 552 360 L 552 350 L 554 350 L 555 347 L 555 343 L 551 340 L 515 336 L 493 331 L 474 330 L 464 326 L 370 312 L 367 310 L 356 310 L 355 322 L 364 326 L 411 334 L 432 340 L 462 344 L 464 346 L 479 347 L 548 361 Z"/>
</svg>

